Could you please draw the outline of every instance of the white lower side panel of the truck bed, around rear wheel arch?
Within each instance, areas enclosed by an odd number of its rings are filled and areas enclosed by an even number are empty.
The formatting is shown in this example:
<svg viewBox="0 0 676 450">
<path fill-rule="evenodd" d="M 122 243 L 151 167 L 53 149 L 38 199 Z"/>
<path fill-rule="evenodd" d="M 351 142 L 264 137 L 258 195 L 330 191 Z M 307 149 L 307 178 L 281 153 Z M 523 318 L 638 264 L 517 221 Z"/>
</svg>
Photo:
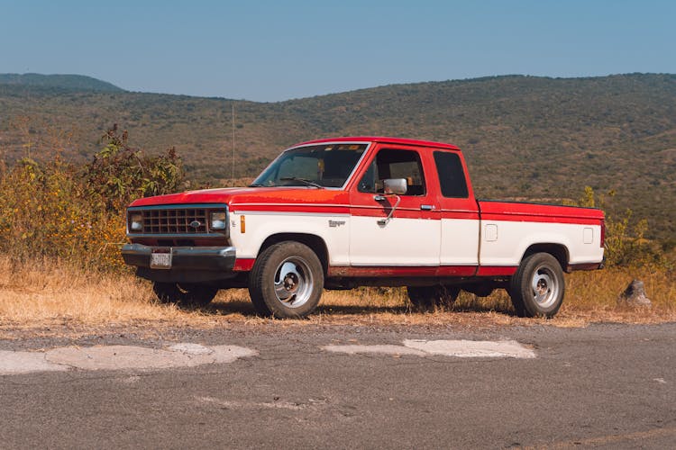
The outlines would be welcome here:
<svg viewBox="0 0 676 450">
<path fill-rule="evenodd" d="M 534 244 L 566 247 L 571 265 L 603 260 L 598 225 L 485 220 L 481 233 L 481 266 L 518 266 L 525 250 Z"/>
</svg>

